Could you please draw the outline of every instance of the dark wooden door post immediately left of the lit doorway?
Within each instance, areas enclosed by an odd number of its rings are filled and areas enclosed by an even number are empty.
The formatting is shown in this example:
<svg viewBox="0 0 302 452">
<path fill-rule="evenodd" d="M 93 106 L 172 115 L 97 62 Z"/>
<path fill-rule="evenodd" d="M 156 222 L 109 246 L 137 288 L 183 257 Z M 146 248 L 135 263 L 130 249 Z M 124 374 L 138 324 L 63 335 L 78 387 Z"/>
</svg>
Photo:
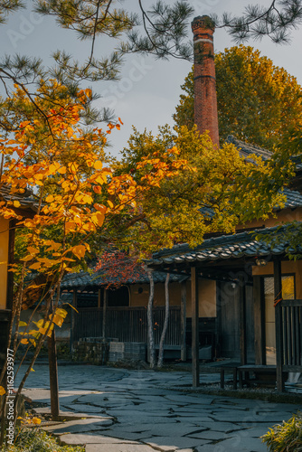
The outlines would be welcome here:
<svg viewBox="0 0 302 452">
<path fill-rule="evenodd" d="M 254 332 L 255 332 L 255 364 L 266 364 L 265 353 L 265 319 L 264 319 L 264 306 L 262 303 L 262 279 L 260 276 L 256 276 L 253 285 L 253 298 L 254 298 Z"/>
</svg>

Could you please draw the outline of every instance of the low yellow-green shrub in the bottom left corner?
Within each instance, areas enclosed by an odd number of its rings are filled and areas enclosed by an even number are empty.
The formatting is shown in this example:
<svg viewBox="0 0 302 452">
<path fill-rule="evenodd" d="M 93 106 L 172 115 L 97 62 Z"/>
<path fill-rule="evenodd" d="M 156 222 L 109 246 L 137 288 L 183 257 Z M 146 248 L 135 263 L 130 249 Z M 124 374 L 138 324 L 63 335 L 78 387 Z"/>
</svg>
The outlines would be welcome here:
<svg viewBox="0 0 302 452">
<path fill-rule="evenodd" d="M 85 452 L 85 447 L 59 446 L 58 441 L 41 428 L 21 428 L 14 446 L 4 446 L 1 452 Z"/>
</svg>

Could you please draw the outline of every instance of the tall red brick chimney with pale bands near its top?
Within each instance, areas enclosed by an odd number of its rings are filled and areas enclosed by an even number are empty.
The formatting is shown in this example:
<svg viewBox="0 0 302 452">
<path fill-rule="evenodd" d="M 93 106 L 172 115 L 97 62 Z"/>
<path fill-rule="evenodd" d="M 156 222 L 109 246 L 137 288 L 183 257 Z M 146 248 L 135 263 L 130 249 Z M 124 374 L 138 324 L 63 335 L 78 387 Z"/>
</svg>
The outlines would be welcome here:
<svg viewBox="0 0 302 452">
<path fill-rule="evenodd" d="M 193 19 L 194 45 L 194 122 L 201 134 L 209 131 L 212 143 L 219 146 L 216 78 L 213 37 L 214 24 L 209 16 Z"/>
</svg>

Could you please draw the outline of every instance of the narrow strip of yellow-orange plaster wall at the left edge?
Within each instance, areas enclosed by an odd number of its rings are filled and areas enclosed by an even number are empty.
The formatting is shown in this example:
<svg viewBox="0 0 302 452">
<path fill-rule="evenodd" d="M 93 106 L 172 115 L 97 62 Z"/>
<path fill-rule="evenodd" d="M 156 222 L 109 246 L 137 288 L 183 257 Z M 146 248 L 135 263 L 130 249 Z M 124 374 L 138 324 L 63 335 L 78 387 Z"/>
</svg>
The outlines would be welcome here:
<svg viewBox="0 0 302 452">
<path fill-rule="evenodd" d="M 9 220 L 0 217 L 0 309 L 6 308 Z"/>
</svg>

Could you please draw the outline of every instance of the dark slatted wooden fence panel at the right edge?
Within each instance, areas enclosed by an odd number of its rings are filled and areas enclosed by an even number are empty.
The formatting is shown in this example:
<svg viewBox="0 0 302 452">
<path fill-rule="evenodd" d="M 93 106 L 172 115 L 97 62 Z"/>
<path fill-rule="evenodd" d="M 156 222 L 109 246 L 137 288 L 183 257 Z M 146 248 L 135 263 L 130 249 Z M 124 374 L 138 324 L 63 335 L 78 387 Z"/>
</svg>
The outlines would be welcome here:
<svg viewBox="0 0 302 452">
<path fill-rule="evenodd" d="M 302 372 L 302 300 L 282 300 L 282 370 Z"/>
</svg>

